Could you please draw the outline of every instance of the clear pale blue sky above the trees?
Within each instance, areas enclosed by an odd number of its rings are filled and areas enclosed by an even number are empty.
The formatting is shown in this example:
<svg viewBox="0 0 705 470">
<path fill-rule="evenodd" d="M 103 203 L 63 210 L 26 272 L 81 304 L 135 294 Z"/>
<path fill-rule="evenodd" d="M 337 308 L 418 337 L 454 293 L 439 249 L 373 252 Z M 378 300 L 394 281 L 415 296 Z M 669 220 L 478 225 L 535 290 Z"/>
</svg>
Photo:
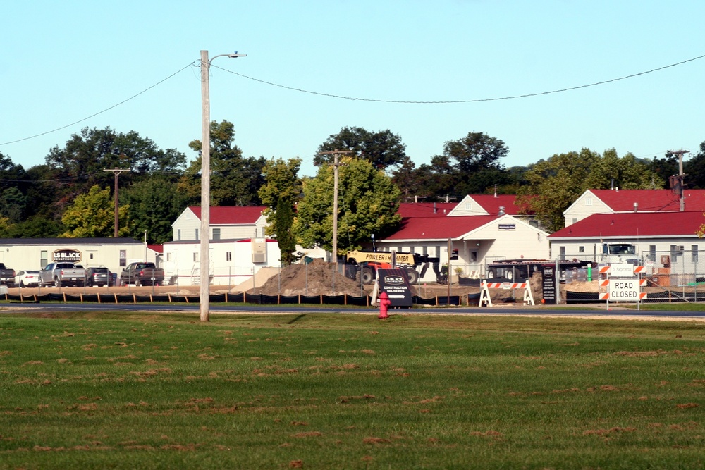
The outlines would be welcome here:
<svg viewBox="0 0 705 470">
<path fill-rule="evenodd" d="M 195 158 L 200 72 L 190 64 L 202 49 L 247 54 L 213 62 L 212 120 L 235 124 L 245 156 L 298 156 L 304 175 L 344 126 L 391 130 L 417 165 L 467 132 L 503 140 L 505 166 L 583 147 L 696 154 L 705 141 L 705 58 L 520 99 L 360 100 L 513 97 L 687 61 L 705 55 L 699 0 L 42 0 L 3 10 L 0 152 L 25 168 L 86 126 L 135 130 Z"/>
</svg>

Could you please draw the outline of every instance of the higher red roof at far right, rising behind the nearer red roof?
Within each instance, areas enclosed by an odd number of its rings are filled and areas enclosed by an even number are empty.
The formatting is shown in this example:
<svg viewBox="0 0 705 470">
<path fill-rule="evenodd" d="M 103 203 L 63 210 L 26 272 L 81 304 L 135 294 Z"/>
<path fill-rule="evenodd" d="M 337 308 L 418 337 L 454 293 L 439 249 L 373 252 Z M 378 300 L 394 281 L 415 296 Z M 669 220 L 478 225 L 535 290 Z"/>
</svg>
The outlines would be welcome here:
<svg viewBox="0 0 705 470">
<path fill-rule="evenodd" d="M 613 211 L 679 211 L 680 199 L 671 190 L 590 190 L 598 199 Z M 705 210 L 705 190 L 685 190 L 683 192 L 686 211 Z"/>
</svg>

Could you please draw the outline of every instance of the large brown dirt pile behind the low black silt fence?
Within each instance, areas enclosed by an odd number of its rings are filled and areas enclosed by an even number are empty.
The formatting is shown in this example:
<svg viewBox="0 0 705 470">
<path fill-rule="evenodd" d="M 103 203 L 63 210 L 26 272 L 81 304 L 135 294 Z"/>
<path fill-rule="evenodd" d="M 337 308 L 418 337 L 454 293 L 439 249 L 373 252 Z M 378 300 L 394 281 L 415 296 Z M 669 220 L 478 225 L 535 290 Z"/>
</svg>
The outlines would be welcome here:
<svg viewBox="0 0 705 470">
<path fill-rule="evenodd" d="M 335 277 L 333 278 L 333 275 Z M 314 259 L 309 264 L 292 264 L 281 269 L 262 287 L 250 289 L 248 294 L 264 295 L 341 295 L 360 297 L 360 283 L 336 273 L 333 263 Z M 364 295 L 364 293 L 362 294 Z"/>
</svg>

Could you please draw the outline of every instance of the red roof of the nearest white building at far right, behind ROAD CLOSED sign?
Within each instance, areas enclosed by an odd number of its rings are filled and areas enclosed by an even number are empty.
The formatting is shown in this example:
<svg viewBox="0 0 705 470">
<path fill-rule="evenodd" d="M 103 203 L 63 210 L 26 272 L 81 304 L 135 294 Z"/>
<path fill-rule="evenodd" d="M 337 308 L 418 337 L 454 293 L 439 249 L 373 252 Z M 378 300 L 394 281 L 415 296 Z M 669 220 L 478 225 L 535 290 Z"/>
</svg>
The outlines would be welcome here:
<svg viewBox="0 0 705 470">
<path fill-rule="evenodd" d="M 703 223 L 705 216 L 701 211 L 592 214 L 548 238 L 695 236 Z"/>
</svg>

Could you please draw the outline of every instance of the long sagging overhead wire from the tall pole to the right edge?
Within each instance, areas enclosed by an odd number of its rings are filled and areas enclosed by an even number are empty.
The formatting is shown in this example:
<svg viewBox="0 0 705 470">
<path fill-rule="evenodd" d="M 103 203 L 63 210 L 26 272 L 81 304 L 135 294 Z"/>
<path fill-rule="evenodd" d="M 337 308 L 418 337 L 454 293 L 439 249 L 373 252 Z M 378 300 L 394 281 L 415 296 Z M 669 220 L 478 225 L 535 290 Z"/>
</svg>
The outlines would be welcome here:
<svg viewBox="0 0 705 470">
<path fill-rule="evenodd" d="M 225 72 L 232 73 L 233 75 L 238 75 L 239 77 L 242 78 L 247 78 L 247 80 L 253 80 L 255 82 L 260 82 L 264 83 L 265 85 L 271 85 L 273 87 L 279 87 L 283 89 L 290 89 L 294 92 L 301 92 L 301 93 L 308 93 L 308 94 L 316 94 L 321 97 L 329 97 L 329 98 L 338 98 L 338 99 L 348 99 L 350 101 L 372 101 L 374 103 L 393 103 L 393 104 L 458 104 L 458 103 L 482 103 L 484 101 L 501 101 L 501 100 L 506 100 L 506 99 L 519 99 L 519 98 L 529 98 L 529 97 L 539 97 L 544 94 L 553 94 L 553 93 L 563 93 L 563 92 L 570 92 L 575 89 L 581 89 L 581 88 L 588 88 L 588 87 L 596 87 L 598 85 L 605 85 L 607 83 L 612 83 L 612 82 L 618 82 L 620 80 L 627 80 L 627 78 L 635 78 L 638 77 L 639 75 L 646 75 L 647 73 L 654 73 L 658 72 L 659 70 L 665 70 L 666 68 L 671 68 L 675 66 L 680 66 L 684 63 L 692 62 L 692 61 L 697 61 L 701 58 L 704 58 L 705 54 L 702 56 L 697 56 L 693 58 L 689 58 L 685 61 L 680 61 L 676 63 L 671 63 L 668 66 L 663 66 L 663 67 L 658 67 L 658 68 L 652 68 L 651 70 L 646 70 L 644 72 L 639 72 L 639 73 L 632 73 L 632 75 L 625 75 L 623 77 L 619 78 L 612 78 L 610 80 L 603 80 L 601 82 L 594 82 L 594 83 L 589 83 L 587 85 L 577 85 L 575 87 L 568 87 L 568 88 L 561 88 L 561 89 L 553 89 L 549 92 L 537 92 L 537 93 L 527 93 L 527 94 L 517 94 L 513 95 L 510 97 L 498 97 L 498 98 L 478 98 L 478 99 L 456 99 L 456 100 L 449 100 L 449 101 L 410 101 L 410 100 L 393 100 L 393 99 L 372 99 L 372 98 L 356 98 L 356 97 L 346 97 L 343 95 L 339 94 L 329 94 L 329 93 L 321 93 L 321 92 L 312 92 L 307 89 L 302 89 L 302 88 L 295 88 L 295 87 L 288 87 L 286 85 L 280 85 L 278 83 L 274 82 L 267 82 L 266 80 L 261 80 L 259 78 L 254 78 L 250 77 L 247 75 L 244 75 L 243 73 L 237 73 L 233 72 L 233 70 L 228 70 L 227 68 L 221 68 L 221 67 L 216 67 L 219 68 Z"/>
</svg>

